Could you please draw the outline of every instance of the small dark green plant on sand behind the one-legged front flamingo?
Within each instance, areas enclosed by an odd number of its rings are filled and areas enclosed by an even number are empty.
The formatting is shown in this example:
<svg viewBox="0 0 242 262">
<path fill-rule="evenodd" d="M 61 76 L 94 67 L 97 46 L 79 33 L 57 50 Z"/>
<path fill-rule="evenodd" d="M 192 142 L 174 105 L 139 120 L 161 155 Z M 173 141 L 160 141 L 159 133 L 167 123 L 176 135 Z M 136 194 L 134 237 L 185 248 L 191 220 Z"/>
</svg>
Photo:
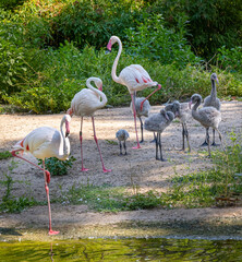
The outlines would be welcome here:
<svg viewBox="0 0 242 262">
<path fill-rule="evenodd" d="M 74 156 L 70 156 L 68 160 L 59 160 L 57 157 L 49 157 L 46 158 L 45 166 L 51 176 L 63 176 L 68 175 L 68 168 L 72 167 L 74 160 L 76 160 Z M 41 159 L 38 159 L 38 165 L 43 166 Z"/>
</svg>

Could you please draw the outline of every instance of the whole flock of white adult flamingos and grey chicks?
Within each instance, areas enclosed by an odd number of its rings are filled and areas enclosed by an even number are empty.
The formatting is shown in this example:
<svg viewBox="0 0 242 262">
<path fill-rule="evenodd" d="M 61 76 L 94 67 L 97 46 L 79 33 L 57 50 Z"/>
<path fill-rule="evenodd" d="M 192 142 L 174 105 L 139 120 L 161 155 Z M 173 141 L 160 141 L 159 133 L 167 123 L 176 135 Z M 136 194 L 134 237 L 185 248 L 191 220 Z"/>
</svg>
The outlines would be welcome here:
<svg viewBox="0 0 242 262">
<path fill-rule="evenodd" d="M 155 142 L 156 142 L 156 159 L 157 160 L 166 160 L 162 156 L 162 147 L 161 147 L 161 133 L 164 130 L 171 124 L 174 118 L 178 118 L 182 123 L 182 150 L 185 150 L 184 139 L 186 138 L 189 152 L 191 152 L 191 146 L 189 142 L 189 132 L 186 128 L 186 122 L 190 117 L 193 117 L 196 121 L 198 121 L 206 129 L 206 139 L 205 142 L 208 146 L 208 155 L 210 156 L 210 143 L 209 143 L 209 128 L 213 128 L 213 145 L 215 145 L 215 131 L 218 132 L 220 142 L 222 144 L 221 133 L 219 131 L 219 123 L 221 121 L 220 114 L 220 102 L 216 96 L 216 85 L 215 81 L 218 82 L 217 75 L 211 74 L 211 93 L 210 96 L 205 98 L 204 107 L 198 109 L 198 106 L 202 104 L 202 96 L 198 94 L 194 94 L 191 97 L 190 103 L 179 103 L 173 102 L 171 104 L 166 105 L 165 108 L 160 109 L 157 114 L 149 114 L 150 105 L 148 98 L 159 90 L 161 90 L 161 85 L 153 81 L 149 76 L 148 72 L 140 64 L 131 64 L 121 70 L 119 76 L 117 75 L 117 66 L 119 62 L 119 58 L 122 52 L 122 43 L 118 36 L 111 36 L 108 41 L 107 49 L 111 51 L 112 45 L 118 44 L 119 50 L 117 57 L 113 61 L 111 69 L 111 78 L 114 82 L 126 86 L 129 93 L 131 95 L 131 107 L 134 117 L 134 130 L 136 135 L 136 146 L 133 148 L 141 148 L 142 142 L 144 142 L 143 135 L 143 127 L 145 130 L 154 133 Z M 92 85 L 94 83 L 96 87 Z M 57 235 L 59 231 L 52 230 L 51 226 L 51 209 L 50 209 L 50 198 L 49 198 L 49 183 L 50 183 L 50 172 L 45 168 L 45 159 L 48 157 L 57 157 L 60 160 L 68 159 L 70 155 L 70 122 L 73 116 L 81 118 L 81 127 L 80 127 L 80 147 L 81 147 L 81 171 L 88 171 L 87 168 L 84 167 L 84 154 L 83 154 L 83 118 L 90 117 L 93 122 L 93 132 L 94 132 L 94 141 L 97 145 L 97 150 L 100 157 L 100 163 L 102 167 L 102 171 L 105 174 L 110 172 L 111 169 L 107 169 L 104 164 L 101 150 L 98 144 L 98 139 L 95 130 L 95 120 L 94 115 L 98 109 L 101 109 L 107 104 L 107 96 L 102 92 L 102 81 L 99 78 L 88 78 L 86 81 L 87 88 L 82 88 L 78 93 L 76 93 L 71 100 L 71 107 L 68 109 L 66 115 L 63 116 L 60 122 L 60 131 L 51 128 L 51 127 L 40 127 L 33 130 L 28 133 L 24 139 L 19 141 L 11 152 L 13 156 L 21 158 L 31 165 L 34 165 L 38 169 L 44 171 L 44 181 L 45 181 L 45 190 L 48 201 L 48 216 L 49 216 L 49 235 Z M 156 87 L 147 97 L 136 97 L 136 92 L 143 91 L 148 87 Z M 191 106 L 193 107 L 191 108 Z M 142 117 L 146 117 L 146 120 L 143 124 Z M 136 117 L 141 121 L 141 135 L 142 140 L 138 140 L 137 134 L 137 124 Z M 65 127 L 65 129 L 63 128 Z M 64 130 L 63 130 L 64 129 Z M 122 154 L 122 144 L 124 148 L 124 155 L 126 155 L 126 144 L 125 141 L 129 139 L 129 132 L 126 130 L 119 130 L 116 133 L 117 139 L 119 140 L 120 145 L 120 155 Z M 29 162 L 25 157 L 23 157 L 23 153 L 31 153 L 36 158 L 40 158 L 43 160 L 43 168 L 36 165 L 33 162 Z"/>
</svg>

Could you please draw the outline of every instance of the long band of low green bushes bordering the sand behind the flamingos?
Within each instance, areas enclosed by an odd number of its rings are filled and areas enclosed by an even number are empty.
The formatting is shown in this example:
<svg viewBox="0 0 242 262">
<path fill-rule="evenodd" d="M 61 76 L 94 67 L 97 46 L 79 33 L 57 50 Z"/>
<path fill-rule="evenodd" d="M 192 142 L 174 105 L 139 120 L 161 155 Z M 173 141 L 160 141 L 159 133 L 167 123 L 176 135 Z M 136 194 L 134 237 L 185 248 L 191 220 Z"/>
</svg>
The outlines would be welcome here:
<svg viewBox="0 0 242 262">
<path fill-rule="evenodd" d="M 113 47 L 114 48 L 114 47 Z M 111 67 L 117 52 L 105 55 L 104 50 L 95 51 L 86 46 L 81 52 L 73 44 L 65 43 L 58 50 L 51 48 L 41 51 L 39 66 L 41 71 L 35 78 L 22 85 L 22 91 L 7 99 L 12 105 L 33 110 L 37 114 L 60 112 L 66 110 L 75 93 L 86 87 L 86 80 L 90 76 L 100 78 L 104 82 L 104 93 L 108 104 L 112 106 L 128 106 L 131 98 L 125 86 L 111 79 Z M 187 64 L 180 70 L 177 63 L 161 66 L 159 61 L 149 61 L 142 57 L 131 57 L 122 53 L 118 74 L 124 67 L 142 64 L 154 81 L 162 85 L 161 91 L 150 97 L 150 104 L 161 104 L 168 99 L 187 99 L 193 93 L 203 97 L 210 93 L 210 72 L 202 67 Z M 242 96 L 242 80 L 232 73 L 226 73 L 214 68 L 219 78 L 218 96 Z M 147 96 L 152 92 L 146 88 L 138 92 L 138 96 Z"/>
</svg>

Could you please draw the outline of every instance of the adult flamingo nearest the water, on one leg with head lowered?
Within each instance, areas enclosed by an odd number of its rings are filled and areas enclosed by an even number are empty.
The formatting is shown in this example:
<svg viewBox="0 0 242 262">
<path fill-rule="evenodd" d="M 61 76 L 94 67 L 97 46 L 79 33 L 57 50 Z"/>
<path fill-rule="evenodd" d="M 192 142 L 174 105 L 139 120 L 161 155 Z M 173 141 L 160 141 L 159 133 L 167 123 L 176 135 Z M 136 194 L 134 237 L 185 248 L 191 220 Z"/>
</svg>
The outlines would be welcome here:
<svg viewBox="0 0 242 262">
<path fill-rule="evenodd" d="M 13 156 L 19 157 L 37 168 L 44 170 L 45 178 L 45 189 L 48 200 L 48 210 L 49 210 L 49 235 L 57 235 L 59 231 L 52 230 L 51 227 L 51 210 L 50 210 L 50 199 L 49 199 L 49 187 L 50 182 L 50 172 L 45 168 L 45 158 L 48 157 L 57 157 L 60 160 L 68 159 L 70 155 L 70 142 L 69 142 L 69 133 L 70 133 L 70 121 L 71 117 L 69 115 L 64 115 L 61 120 L 60 131 L 50 128 L 50 127 L 41 127 L 33 130 L 28 133 L 23 140 L 19 141 L 14 145 L 14 150 L 11 152 Z M 65 123 L 65 134 L 63 132 L 63 124 Z M 16 153 L 20 154 L 16 154 Z M 31 153 L 33 156 L 43 159 L 43 167 L 35 165 L 34 163 L 27 160 L 22 155 L 23 153 Z"/>
</svg>

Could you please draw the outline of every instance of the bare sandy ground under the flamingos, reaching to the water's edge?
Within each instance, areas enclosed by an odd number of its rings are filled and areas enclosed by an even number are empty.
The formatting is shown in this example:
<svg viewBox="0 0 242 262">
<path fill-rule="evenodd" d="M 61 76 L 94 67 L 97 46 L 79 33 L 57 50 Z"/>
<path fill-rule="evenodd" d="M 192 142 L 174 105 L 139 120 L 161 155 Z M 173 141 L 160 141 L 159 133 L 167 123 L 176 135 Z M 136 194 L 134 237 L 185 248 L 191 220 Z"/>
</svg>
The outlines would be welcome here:
<svg viewBox="0 0 242 262">
<path fill-rule="evenodd" d="M 161 106 L 154 106 L 150 114 L 158 112 Z M 221 112 L 222 121 L 220 123 L 220 131 L 223 135 L 225 143 L 229 143 L 229 132 L 240 133 L 242 131 L 242 103 L 222 102 Z M 23 139 L 35 128 L 50 126 L 59 129 L 62 116 L 63 114 L 45 116 L 1 115 L 0 151 L 10 151 L 15 142 Z M 173 121 L 162 133 L 164 156 L 167 162 L 155 159 L 155 144 L 150 143 L 153 140 L 152 132 L 144 132 L 145 142 L 142 144 L 142 148 L 132 148 L 135 146 L 135 133 L 130 108 L 108 108 L 99 110 L 95 115 L 95 123 L 105 166 L 106 168 L 112 169 L 112 171 L 107 174 L 102 172 L 98 151 L 93 140 L 92 120 L 90 118 L 84 118 L 84 166 L 88 168 L 89 171 L 81 172 L 78 142 L 80 118 L 73 117 L 70 142 L 71 155 L 73 155 L 76 160 L 66 176 L 51 177 L 50 199 L 58 198 L 74 183 L 89 183 L 94 186 L 110 184 L 112 187 L 123 186 L 126 187 L 128 190 L 137 188 L 140 192 L 145 192 L 150 189 L 166 191 L 169 187 L 167 179 L 174 174 L 183 176 L 187 172 L 202 170 L 211 166 L 210 159 L 204 154 L 204 152 L 207 152 L 207 148 L 199 147 L 199 144 L 205 138 L 205 130 L 192 118 L 187 123 L 192 147 L 191 154 L 181 151 L 182 134 L 179 121 Z M 140 126 L 140 122 L 137 123 Z M 125 129 L 130 133 L 130 139 L 126 142 L 128 155 L 120 156 L 119 145 L 110 143 L 110 141 L 117 142 L 116 132 L 119 129 Z M 216 141 L 219 142 L 218 136 L 216 136 Z M 33 156 L 25 156 L 37 163 Z M 2 180 L 4 174 L 9 171 L 8 167 L 12 159 L 13 158 L 0 162 Z M 12 193 L 14 195 L 25 194 L 34 196 L 36 200 L 46 201 L 43 172 L 23 160 L 14 160 L 19 164 L 17 167 L 12 170 L 11 176 L 19 182 L 13 184 Z M 0 195 L 2 194 L 3 187 L 0 187 Z M 229 228 L 227 234 L 226 230 L 222 229 L 223 235 L 242 236 L 242 207 L 240 206 L 201 210 L 155 209 L 149 211 L 120 212 L 116 214 L 93 212 L 84 205 L 68 206 L 52 204 L 51 207 L 53 227 L 61 229 L 58 236 L 59 238 L 164 236 L 168 234 L 165 233 L 164 225 L 172 225 L 173 223 L 173 226 L 176 226 L 181 224 L 180 228 L 182 228 L 184 227 L 182 223 L 185 223 L 186 228 L 187 225 L 190 225 L 190 227 L 194 225 L 193 228 L 199 225 L 197 229 L 201 230 L 201 223 L 209 224 L 211 221 L 219 225 L 227 223 L 227 225 L 235 226 L 235 229 L 233 228 L 234 231 Z M 0 214 L 0 239 L 20 236 L 22 238 L 25 236 L 27 239 L 38 239 L 39 236 L 44 237 L 47 235 L 47 206 L 27 209 L 21 214 Z M 149 225 L 148 228 L 147 225 Z M 140 229 L 137 230 L 137 228 Z M 173 234 L 178 234 L 178 231 L 173 231 Z"/>
</svg>

